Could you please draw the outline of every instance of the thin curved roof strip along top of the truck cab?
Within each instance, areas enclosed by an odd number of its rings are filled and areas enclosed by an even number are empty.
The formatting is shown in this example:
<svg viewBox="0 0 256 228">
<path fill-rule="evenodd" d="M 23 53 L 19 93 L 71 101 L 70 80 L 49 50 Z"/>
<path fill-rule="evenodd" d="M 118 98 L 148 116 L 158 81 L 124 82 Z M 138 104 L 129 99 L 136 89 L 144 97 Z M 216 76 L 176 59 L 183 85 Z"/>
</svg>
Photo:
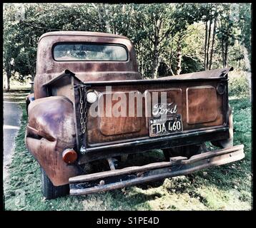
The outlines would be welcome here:
<svg viewBox="0 0 256 228">
<path fill-rule="evenodd" d="M 41 38 L 45 36 L 102 36 L 102 37 L 113 37 L 113 38 L 125 38 L 128 39 L 125 36 L 112 34 L 112 33 L 99 33 L 99 32 L 93 32 L 93 31 L 51 31 L 48 33 L 44 33 L 39 38 L 39 41 Z"/>
</svg>

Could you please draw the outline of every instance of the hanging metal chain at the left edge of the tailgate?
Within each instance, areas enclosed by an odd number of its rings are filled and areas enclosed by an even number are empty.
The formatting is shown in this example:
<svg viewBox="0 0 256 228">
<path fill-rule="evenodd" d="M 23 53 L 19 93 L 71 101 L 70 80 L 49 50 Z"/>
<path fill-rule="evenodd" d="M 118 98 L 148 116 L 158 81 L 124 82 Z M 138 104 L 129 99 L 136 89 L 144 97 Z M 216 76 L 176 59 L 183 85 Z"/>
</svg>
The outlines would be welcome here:
<svg viewBox="0 0 256 228">
<path fill-rule="evenodd" d="M 85 133 L 87 130 L 87 87 L 82 85 L 79 86 L 79 93 L 80 93 L 80 124 L 81 124 L 81 131 L 82 134 Z"/>
</svg>

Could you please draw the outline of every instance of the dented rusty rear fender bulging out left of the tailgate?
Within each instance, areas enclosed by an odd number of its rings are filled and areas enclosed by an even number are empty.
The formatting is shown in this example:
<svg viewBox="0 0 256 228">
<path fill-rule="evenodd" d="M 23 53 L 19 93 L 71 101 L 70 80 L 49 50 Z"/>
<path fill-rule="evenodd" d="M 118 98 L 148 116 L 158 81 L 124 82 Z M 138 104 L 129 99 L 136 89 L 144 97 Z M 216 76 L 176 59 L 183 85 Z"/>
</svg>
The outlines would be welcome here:
<svg viewBox="0 0 256 228">
<path fill-rule="evenodd" d="M 25 142 L 55 186 L 66 185 L 79 174 L 76 165 L 62 160 L 66 148 L 76 146 L 72 102 L 65 97 L 40 98 L 30 103 Z"/>
</svg>

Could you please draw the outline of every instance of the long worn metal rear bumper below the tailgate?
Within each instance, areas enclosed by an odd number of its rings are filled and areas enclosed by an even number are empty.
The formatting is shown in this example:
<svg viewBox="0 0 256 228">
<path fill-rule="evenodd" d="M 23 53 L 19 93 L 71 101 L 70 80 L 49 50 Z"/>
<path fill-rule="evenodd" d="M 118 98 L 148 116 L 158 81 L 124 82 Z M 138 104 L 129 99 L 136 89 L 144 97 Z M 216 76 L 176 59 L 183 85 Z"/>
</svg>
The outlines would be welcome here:
<svg viewBox="0 0 256 228">
<path fill-rule="evenodd" d="M 115 190 L 224 165 L 244 158 L 243 148 L 244 145 L 236 145 L 222 150 L 204 152 L 190 157 L 189 160 L 187 157 L 170 157 L 169 162 L 156 162 L 143 166 L 126 167 L 121 170 L 70 177 L 70 195 L 87 195 Z"/>
</svg>

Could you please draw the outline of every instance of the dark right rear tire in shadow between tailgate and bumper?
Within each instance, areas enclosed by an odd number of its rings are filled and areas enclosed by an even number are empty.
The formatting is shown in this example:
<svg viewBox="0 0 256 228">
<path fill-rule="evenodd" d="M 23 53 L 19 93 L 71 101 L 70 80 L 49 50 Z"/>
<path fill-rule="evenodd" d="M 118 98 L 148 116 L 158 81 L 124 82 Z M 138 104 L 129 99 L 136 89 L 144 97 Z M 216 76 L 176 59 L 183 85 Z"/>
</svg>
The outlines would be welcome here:
<svg viewBox="0 0 256 228">
<path fill-rule="evenodd" d="M 193 155 L 198 155 L 202 151 L 203 145 L 184 145 L 181 147 L 172 147 L 169 149 L 162 150 L 164 152 L 165 160 L 169 161 L 169 157 L 192 157 Z"/>
</svg>

